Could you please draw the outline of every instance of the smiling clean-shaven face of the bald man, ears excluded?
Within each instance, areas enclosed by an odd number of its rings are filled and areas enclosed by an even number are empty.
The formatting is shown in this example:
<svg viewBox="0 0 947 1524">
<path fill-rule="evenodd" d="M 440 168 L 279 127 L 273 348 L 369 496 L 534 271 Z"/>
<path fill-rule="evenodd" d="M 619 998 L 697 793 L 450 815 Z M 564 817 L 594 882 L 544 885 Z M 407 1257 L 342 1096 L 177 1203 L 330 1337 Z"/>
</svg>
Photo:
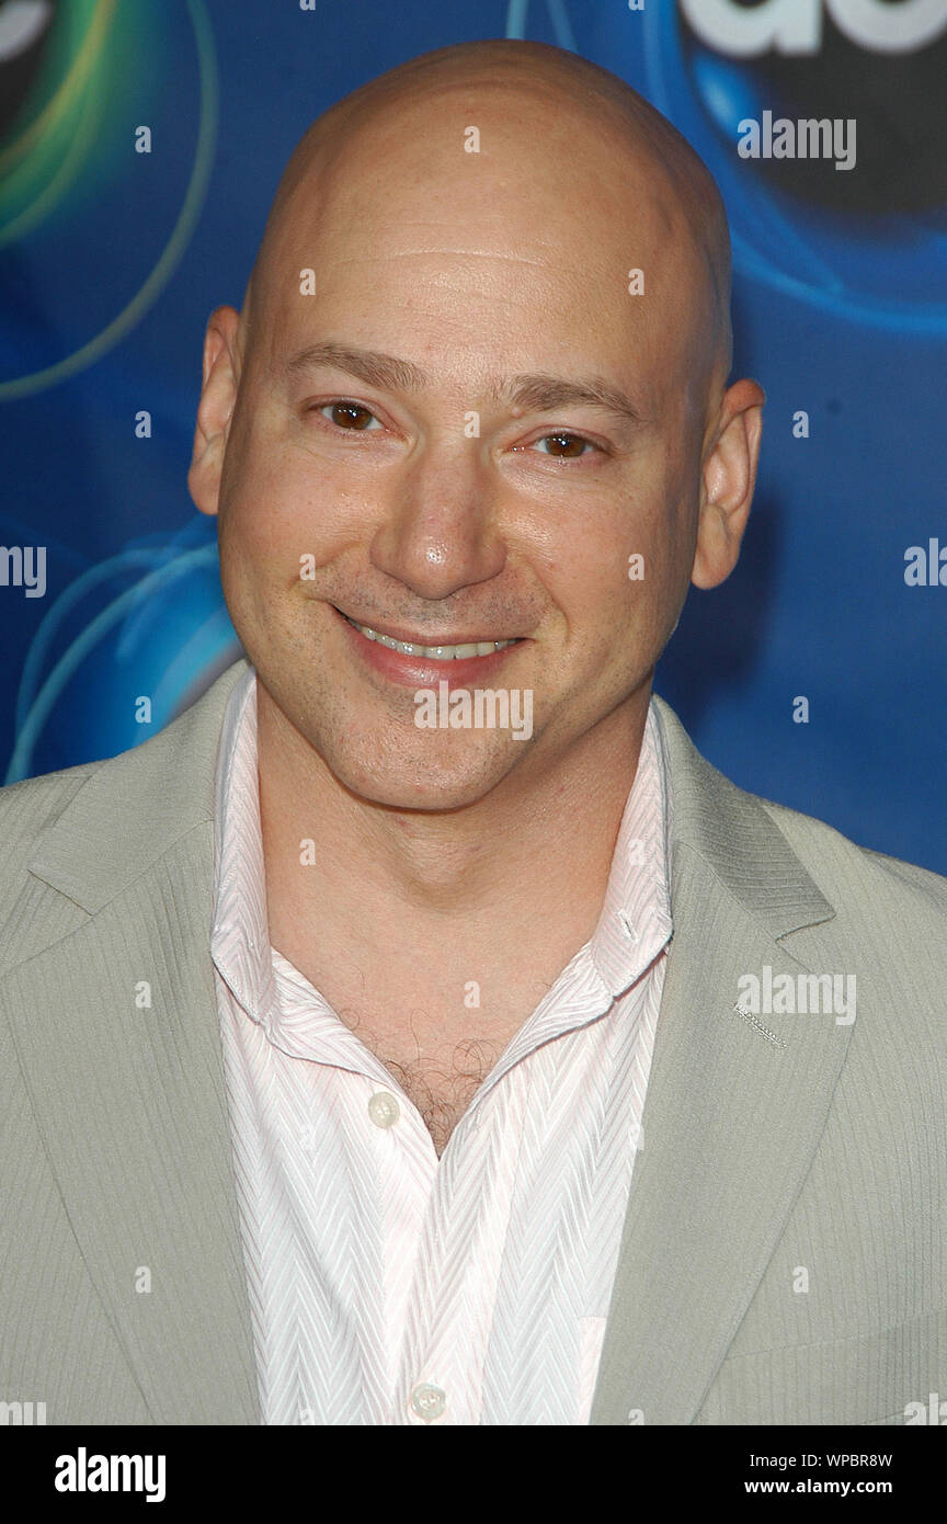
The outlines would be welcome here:
<svg viewBox="0 0 947 1524">
<path fill-rule="evenodd" d="M 234 628 L 295 732 L 384 805 L 469 805 L 598 725 L 627 735 L 691 573 L 706 398 L 685 233 L 653 171 L 609 169 L 550 102 L 524 113 L 509 126 L 449 94 L 297 190 L 228 422 Z M 604 383 L 636 416 L 537 387 L 513 401 L 524 375 Z M 417 649 L 493 642 L 513 643 Z M 416 695 L 442 683 L 519 695 L 510 727 L 419 725 Z"/>
</svg>

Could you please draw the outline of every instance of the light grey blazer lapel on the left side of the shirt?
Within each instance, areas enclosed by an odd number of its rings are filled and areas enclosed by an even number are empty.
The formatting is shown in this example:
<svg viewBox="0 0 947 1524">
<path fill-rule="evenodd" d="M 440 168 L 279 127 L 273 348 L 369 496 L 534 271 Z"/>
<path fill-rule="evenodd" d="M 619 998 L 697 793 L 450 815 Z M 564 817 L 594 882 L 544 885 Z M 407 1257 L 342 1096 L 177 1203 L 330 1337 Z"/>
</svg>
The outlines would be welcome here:
<svg viewBox="0 0 947 1524">
<path fill-rule="evenodd" d="M 209 951 L 213 757 L 245 671 L 136 765 L 90 774 L 30 863 L 87 917 L 0 985 L 72 1228 L 155 1423 L 259 1423 Z"/>
</svg>

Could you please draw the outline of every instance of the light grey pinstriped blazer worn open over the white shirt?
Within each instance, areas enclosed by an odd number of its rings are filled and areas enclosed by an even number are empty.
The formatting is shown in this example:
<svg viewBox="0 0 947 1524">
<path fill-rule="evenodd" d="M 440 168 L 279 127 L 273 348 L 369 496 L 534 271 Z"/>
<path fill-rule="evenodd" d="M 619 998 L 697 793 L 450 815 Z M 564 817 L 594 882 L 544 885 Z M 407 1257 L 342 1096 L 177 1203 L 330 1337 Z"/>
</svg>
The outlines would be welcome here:
<svg viewBox="0 0 947 1524">
<path fill-rule="evenodd" d="M 47 1423 L 260 1422 L 209 951 L 245 671 L 0 789 L 0 1402 Z M 656 704 L 674 936 L 591 1422 L 915 1420 L 947 1399 L 947 879 L 735 788 Z M 856 975 L 856 1020 L 764 1007 L 808 974 Z"/>
</svg>

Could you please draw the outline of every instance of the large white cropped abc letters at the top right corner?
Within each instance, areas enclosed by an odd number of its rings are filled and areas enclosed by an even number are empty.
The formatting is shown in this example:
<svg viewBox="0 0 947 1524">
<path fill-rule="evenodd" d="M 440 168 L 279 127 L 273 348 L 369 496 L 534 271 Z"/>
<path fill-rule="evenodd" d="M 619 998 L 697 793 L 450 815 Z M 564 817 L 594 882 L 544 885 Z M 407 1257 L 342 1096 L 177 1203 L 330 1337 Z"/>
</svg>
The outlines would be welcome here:
<svg viewBox="0 0 947 1524">
<path fill-rule="evenodd" d="M 822 15 L 839 32 L 872 53 L 912 53 L 947 29 L 947 0 L 763 0 L 752 8 L 737 0 L 681 0 L 694 34 L 731 58 L 818 53 Z"/>
</svg>

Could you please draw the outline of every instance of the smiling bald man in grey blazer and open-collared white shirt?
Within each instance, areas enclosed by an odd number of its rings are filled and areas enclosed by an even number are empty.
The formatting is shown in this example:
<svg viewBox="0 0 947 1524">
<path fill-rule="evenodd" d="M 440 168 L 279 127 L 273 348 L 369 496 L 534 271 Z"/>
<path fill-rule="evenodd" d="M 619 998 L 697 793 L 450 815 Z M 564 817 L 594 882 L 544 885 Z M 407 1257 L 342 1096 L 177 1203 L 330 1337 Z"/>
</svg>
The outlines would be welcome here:
<svg viewBox="0 0 947 1524">
<path fill-rule="evenodd" d="M 204 343 L 247 660 L 0 796 L 0 1398 L 947 1391 L 947 882 L 737 789 L 652 693 L 751 507 L 729 369 L 717 189 L 606 70 L 448 47 L 306 133 Z"/>
</svg>

